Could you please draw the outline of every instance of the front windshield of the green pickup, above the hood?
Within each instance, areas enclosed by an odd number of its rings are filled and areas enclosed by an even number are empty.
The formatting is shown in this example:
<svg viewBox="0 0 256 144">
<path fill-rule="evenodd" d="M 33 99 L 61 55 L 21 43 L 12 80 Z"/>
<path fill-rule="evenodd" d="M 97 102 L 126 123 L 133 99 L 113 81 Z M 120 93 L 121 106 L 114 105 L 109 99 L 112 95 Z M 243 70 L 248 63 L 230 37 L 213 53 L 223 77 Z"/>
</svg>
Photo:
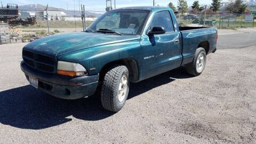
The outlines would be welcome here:
<svg viewBox="0 0 256 144">
<path fill-rule="evenodd" d="M 87 31 L 108 29 L 116 31 L 119 34 L 139 35 L 144 26 L 143 24 L 147 20 L 148 14 L 149 11 L 147 10 L 109 11 L 93 22 Z"/>
</svg>

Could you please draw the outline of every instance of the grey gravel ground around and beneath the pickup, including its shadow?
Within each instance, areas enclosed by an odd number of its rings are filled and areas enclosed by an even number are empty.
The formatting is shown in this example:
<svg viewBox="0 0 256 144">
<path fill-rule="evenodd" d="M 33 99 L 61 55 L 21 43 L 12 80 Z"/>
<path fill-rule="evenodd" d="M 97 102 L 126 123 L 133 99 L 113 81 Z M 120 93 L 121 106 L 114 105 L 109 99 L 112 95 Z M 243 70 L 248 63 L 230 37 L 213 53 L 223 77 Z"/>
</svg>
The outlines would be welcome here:
<svg viewBox="0 0 256 144">
<path fill-rule="evenodd" d="M 209 54 L 198 77 L 179 68 L 131 84 L 110 113 L 28 85 L 23 45 L 0 47 L 0 143 L 256 143 L 256 46 Z"/>
</svg>

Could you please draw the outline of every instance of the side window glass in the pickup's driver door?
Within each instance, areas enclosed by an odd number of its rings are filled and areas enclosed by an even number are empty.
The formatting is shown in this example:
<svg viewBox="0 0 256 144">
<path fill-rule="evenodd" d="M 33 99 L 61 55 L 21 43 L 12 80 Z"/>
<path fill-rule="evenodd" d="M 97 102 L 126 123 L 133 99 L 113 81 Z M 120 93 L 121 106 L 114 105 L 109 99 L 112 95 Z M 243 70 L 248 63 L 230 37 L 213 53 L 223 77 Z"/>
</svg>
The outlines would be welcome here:
<svg viewBox="0 0 256 144">
<path fill-rule="evenodd" d="M 166 32 L 174 31 L 173 22 L 169 11 L 158 12 L 154 15 L 151 27 L 162 26 Z"/>
</svg>

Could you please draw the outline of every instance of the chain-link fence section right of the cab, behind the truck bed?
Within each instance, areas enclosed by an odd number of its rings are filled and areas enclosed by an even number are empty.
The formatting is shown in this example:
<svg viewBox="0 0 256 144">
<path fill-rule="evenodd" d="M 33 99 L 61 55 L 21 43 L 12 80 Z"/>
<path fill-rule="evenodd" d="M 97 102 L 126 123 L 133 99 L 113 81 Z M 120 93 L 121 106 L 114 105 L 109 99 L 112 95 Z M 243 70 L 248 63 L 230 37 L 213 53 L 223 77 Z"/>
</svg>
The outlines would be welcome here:
<svg viewBox="0 0 256 144">
<path fill-rule="evenodd" d="M 180 26 L 254 28 L 256 16 L 253 14 L 176 14 Z"/>
</svg>

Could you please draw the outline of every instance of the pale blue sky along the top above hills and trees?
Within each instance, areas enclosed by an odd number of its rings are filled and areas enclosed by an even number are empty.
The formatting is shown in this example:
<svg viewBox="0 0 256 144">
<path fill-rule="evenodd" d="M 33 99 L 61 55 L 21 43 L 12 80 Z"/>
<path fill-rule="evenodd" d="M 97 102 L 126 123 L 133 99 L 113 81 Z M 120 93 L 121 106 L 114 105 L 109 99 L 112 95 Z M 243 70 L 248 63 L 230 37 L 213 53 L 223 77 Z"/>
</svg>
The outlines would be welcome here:
<svg viewBox="0 0 256 144">
<path fill-rule="evenodd" d="M 188 0 L 188 5 L 191 6 L 195 0 Z M 177 6 L 177 0 L 155 0 L 156 5 L 167 6 L 172 2 Z M 199 4 L 211 4 L 211 0 L 200 0 Z M 27 4 L 49 4 L 52 7 L 58 7 L 68 10 L 79 10 L 79 3 L 85 5 L 85 10 L 88 11 L 105 11 L 106 0 L 2 0 L 3 6 L 7 3 L 27 5 Z M 75 6 L 74 6 L 75 5 Z M 151 6 L 153 5 L 153 0 L 116 0 L 116 8 L 127 7 L 127 6 Z M 112 7 L 114 8 L 114 0 L 112 0 Z"/>
</svg>

